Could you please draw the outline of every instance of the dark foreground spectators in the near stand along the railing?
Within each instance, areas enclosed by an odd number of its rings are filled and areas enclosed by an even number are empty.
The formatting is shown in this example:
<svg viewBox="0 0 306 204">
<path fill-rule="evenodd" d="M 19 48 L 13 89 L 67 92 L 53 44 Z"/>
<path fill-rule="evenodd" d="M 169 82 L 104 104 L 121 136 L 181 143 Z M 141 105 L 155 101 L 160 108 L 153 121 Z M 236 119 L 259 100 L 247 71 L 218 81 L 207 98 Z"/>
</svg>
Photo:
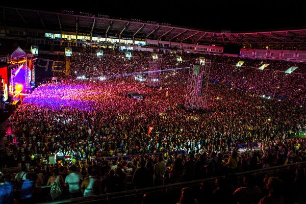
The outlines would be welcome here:
<svg viewBox="0 0 306 204">
<path fill-rule="evenodd" d="M 2 203 L 14 200 L 19 203 L 58 201 L 191 181 L 228 171 L 223 176 L 219 174 L 215 183 L 202 182 L 199 188 L 188 188 L 192 200 L 187 203 L 303 203 L 305 165 L 265 174 L 235 175 L 245 166 L 268 168 L 271 163 L 267 160 L 273 154 L 267 155 L 267 158 L 261 157 L 260 152 L 253 151 L 245 160 L 247 154 L 233 151 L 225 163 L 220 162 L 221 154 L 216 156 L 212 152 L 210 158 L 203 154 L 141 155 L 111 161 L 91 160 L 87 164 L 80 163 L 80 166 L 39 164 L 33 170 L 24 166 L 21 172 L 5 173 L 1 177 L 0 199 Z M 285 155 L 278 154 L 274 165 L 284 164 Z M 49 188 L 42 188 L 45 185 Z M 183 195 L 180 200 L 174 195 L 171 199 L 162 200 L 147 196 L 143 198 L 143 203 L 155 203 L 157 200 L 161 203 L 186 203 L 182 200 Z"/>
</svg>

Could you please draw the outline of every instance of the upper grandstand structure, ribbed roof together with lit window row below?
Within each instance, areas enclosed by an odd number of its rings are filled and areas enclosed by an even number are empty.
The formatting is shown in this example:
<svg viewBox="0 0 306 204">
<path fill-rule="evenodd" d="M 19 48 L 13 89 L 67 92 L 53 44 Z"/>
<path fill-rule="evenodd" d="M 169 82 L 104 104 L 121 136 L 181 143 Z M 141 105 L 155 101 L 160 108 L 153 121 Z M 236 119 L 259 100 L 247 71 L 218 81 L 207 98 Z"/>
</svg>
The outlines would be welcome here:
<svg viewBox="0 0 306 204">
<path fill-rule="evenodd" d="M 0 21 L 3 22 L 0 25 L 1 38 L 27 44 L 80 46 L 86 41 L 108 41 L 150 45 L 160 47 L 166 52 L 170 49 L 181 49 L 217 54 L 222 54 L 226 46 L 237 45 L 240 48 L 268 49 L 268 54 L 272 49 L 293 49 L 292 52 L 284 52 L 285 57 L 293 54 L 291 58 L 306 58 L 304 53 L 298 56 L 299 50 L 306 50 L 305 29 L 249 33 L 211 32 L 158 22 L 9 7 L 1 7 Z"/>
</svg>

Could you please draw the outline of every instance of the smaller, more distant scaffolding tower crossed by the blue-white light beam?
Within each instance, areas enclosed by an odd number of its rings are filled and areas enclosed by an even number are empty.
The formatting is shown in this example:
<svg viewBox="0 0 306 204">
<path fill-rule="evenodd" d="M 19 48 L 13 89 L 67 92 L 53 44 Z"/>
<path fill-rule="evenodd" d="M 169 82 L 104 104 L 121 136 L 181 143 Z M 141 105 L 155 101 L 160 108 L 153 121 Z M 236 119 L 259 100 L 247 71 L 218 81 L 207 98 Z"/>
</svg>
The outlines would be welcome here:
<svg viewBox="0 0 306 204">
<path fill-rule="evenodd" d="M 153 59 L 149 62 L 147 86 L 160 86 L 161 59 Z"/>
</svg>

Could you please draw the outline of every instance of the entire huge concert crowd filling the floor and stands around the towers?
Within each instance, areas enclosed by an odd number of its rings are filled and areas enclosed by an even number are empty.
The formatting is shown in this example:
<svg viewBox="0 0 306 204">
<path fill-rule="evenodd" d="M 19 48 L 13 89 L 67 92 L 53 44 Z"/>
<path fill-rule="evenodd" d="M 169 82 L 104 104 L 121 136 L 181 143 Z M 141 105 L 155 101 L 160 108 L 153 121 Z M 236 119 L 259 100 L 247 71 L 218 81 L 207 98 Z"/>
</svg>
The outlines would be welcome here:
<svg viewBox="0 0 306 204">
<path fill-rule="evenodd" d="M 148 70 L 148 56 L 97 58 L 86 49 L 72 57 L 71 78 L 42 84 L 25 97 L 10 116 L 12 133 L 0 147 L 0 168 L 22 171 L 4 174 L 0 188 L 19 187 L 20 201 L 29 203 L 44 185 L 51 186 L 44 199 L 56 200 L 306 161 L 306 139 L 299 137 L 306 132 L 303 74 L 260 71 L 250 67 L 251 60 L 236 67 L 230 57 L 209 56 L 208 107 L 192 112 L 184 108 L 188 69 L 161 72 L 156 88 L 135 75 L 103 78 Z M 159 57 L 162 70 L 196 62 L 193 55 L 183 56 L 183 62 L 171 54 Z M 145 98 L 127 97 L 131 91 Z M 54 155 L 69 159 L 50 164 Z M 224 193 L 222 177 L 218 182 L 216 192 Z"/>
</svg>

